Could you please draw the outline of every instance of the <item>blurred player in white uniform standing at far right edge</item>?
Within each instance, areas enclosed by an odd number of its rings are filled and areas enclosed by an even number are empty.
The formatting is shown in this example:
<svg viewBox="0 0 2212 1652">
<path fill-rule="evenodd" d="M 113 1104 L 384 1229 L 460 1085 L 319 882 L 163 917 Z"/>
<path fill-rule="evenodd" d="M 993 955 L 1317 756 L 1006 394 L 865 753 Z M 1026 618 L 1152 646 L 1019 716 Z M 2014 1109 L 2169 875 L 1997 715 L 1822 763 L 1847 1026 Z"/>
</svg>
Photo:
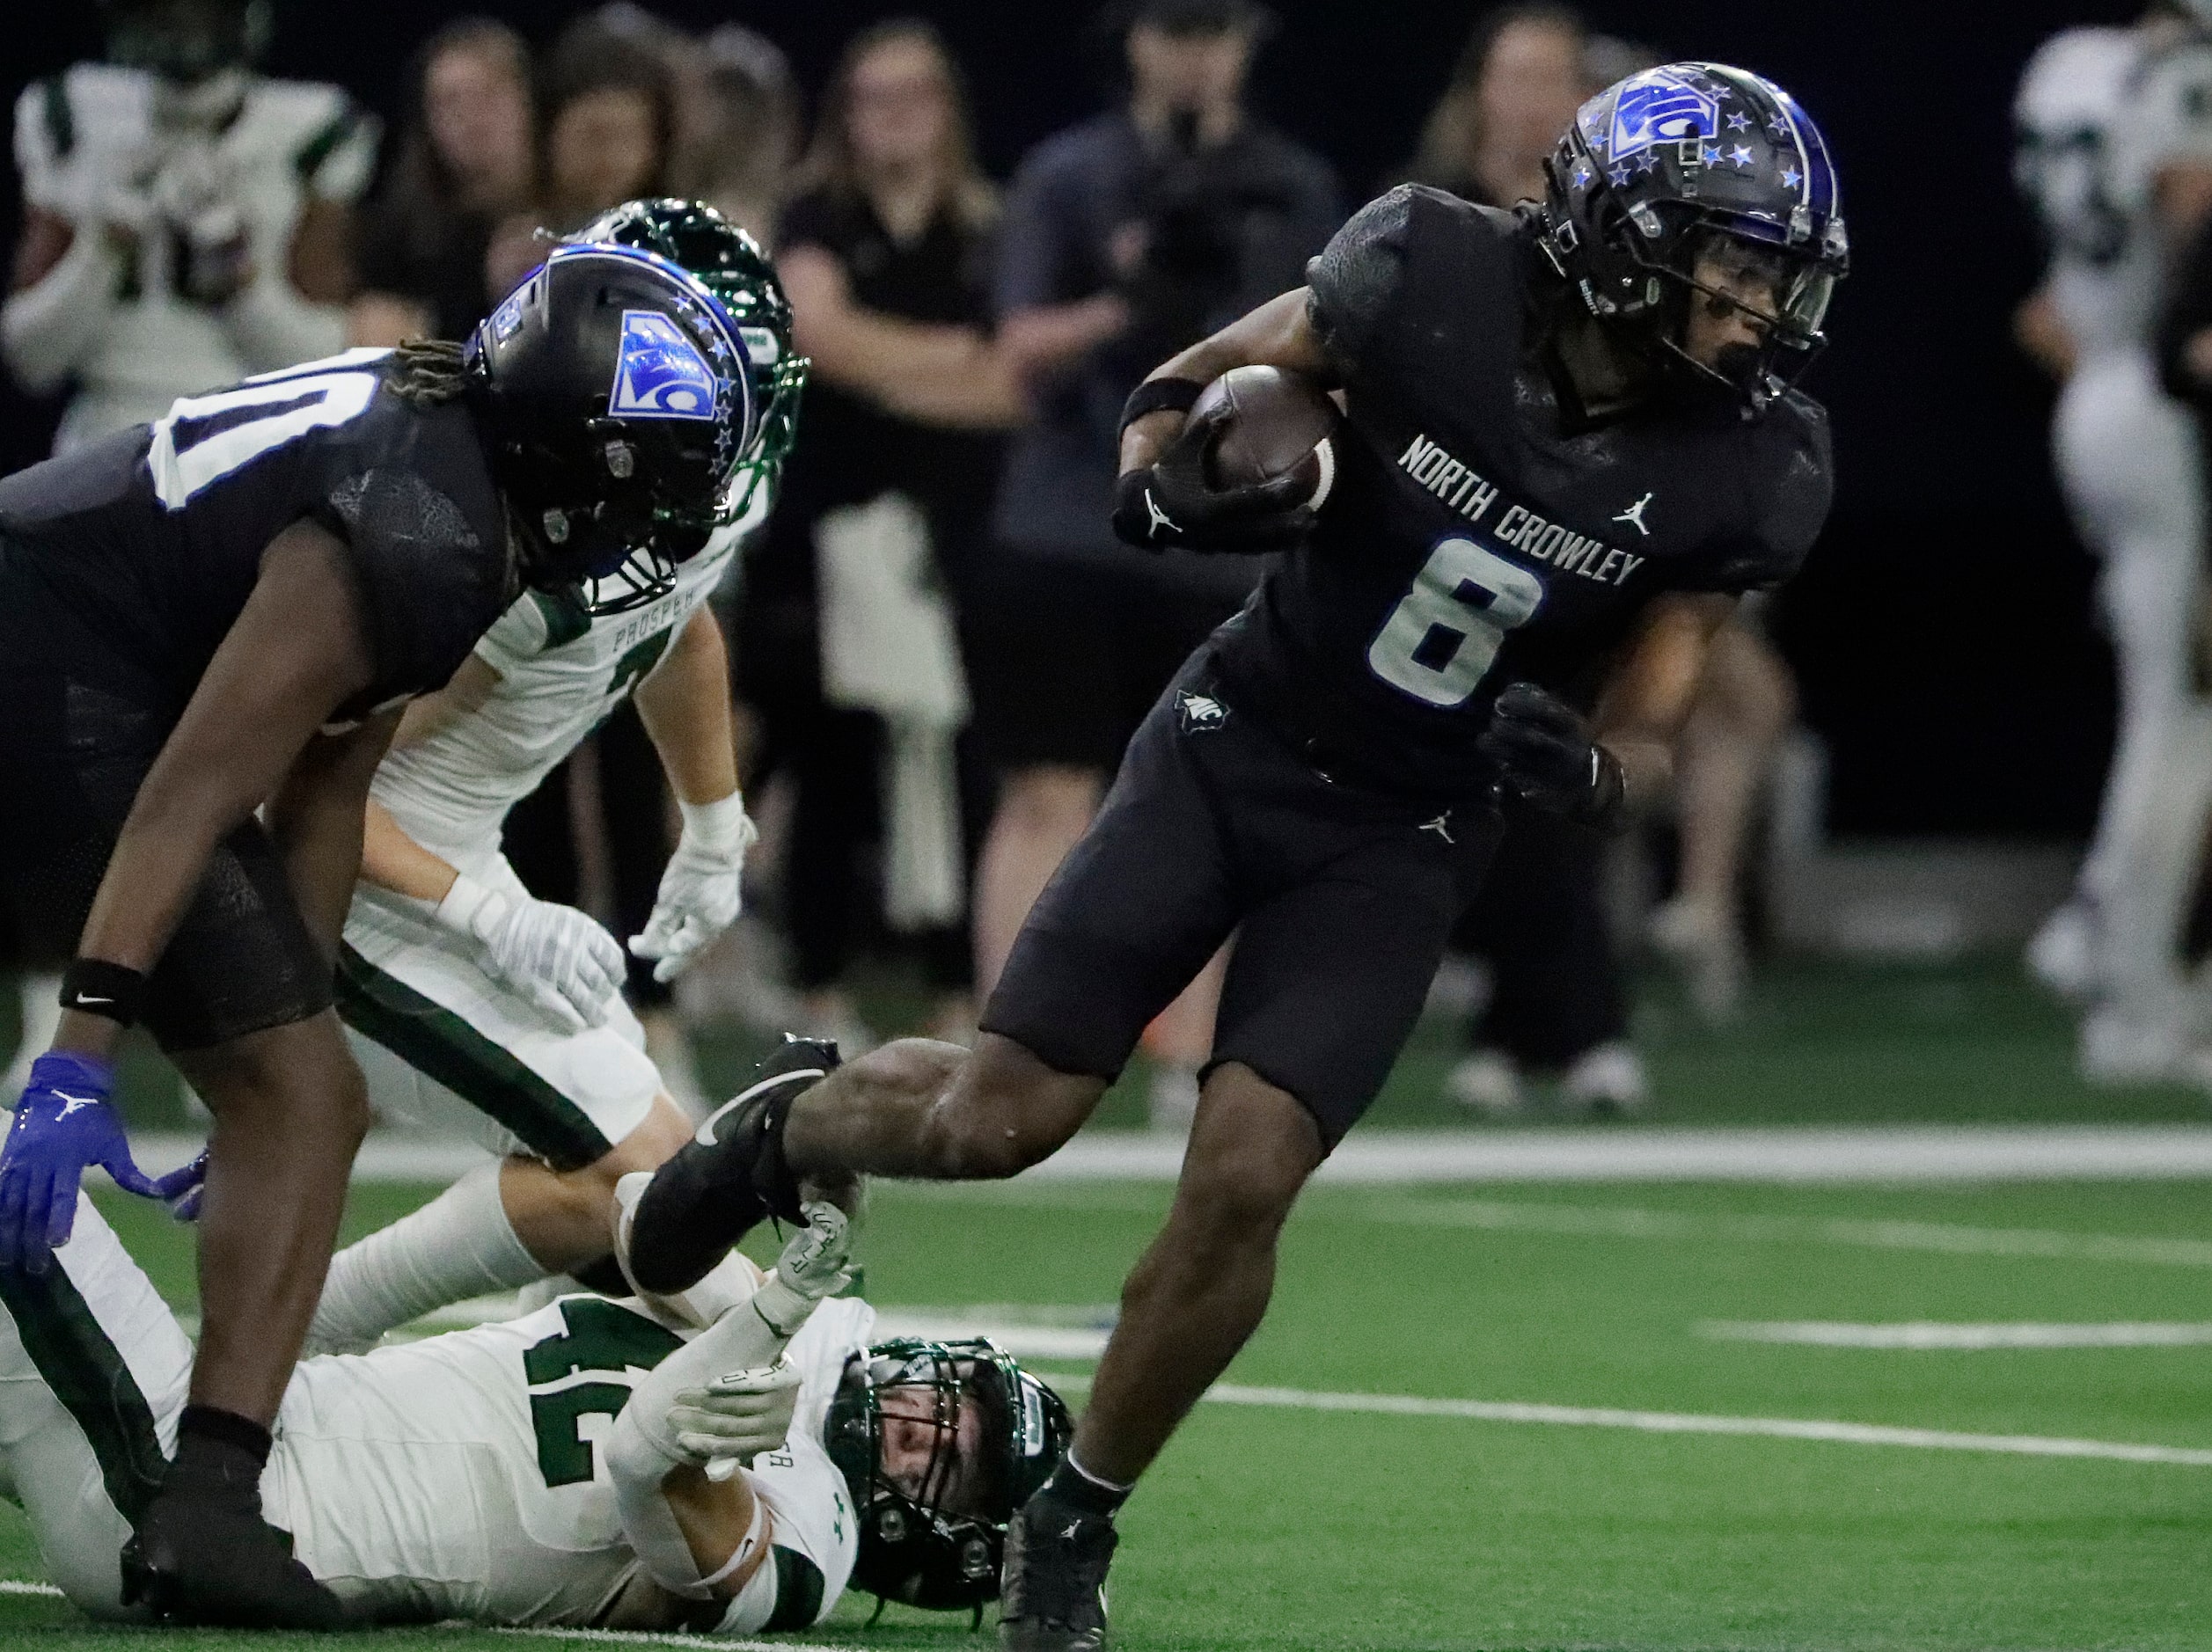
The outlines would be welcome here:
<svg viewBox="0 0 2212 1652">
<path fill-rule="evenodd" d="M 2159 387 L 2150 332 L 2166 268 L 2212 208 L 2212 42 L 2157 13 L 2135 29 L 2068 29 L 2035 53 L 2015 113 L 2017 175 L 2051 243 L 2020 332 L 2066 380 L 2057 471 L 2104 562 L 2119 663 L 2097 838 L 2031 962 L 2093 1000 L 2084 1075 L 2168 1077 L 2188 1055 L 2179 935 L 2212 798 L 2212 712 L 2190 670 L 2197 438 Z"/>
</svg>

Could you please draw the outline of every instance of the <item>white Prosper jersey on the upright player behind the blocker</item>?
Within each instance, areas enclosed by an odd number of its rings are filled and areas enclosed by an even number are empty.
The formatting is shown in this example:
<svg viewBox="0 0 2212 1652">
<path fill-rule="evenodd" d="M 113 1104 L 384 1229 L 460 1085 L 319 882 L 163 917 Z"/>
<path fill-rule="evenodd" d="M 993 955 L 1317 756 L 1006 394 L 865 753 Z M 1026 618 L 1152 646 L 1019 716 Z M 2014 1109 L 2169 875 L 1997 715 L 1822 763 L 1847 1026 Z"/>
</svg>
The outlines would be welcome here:
<svg viewBox="0 0 2212 1652">
<path fill-rule="evenodd" d="M 757 489 L 745 515 L 677 568 L 675 590 L 626 615 L 593 619 L 566 595 L 526 593 L 476 644 L 500 675 L 491 697 L 394 747 L 376 770 L 376 801 L 409 838 L 465 871 L 498 854 L 507 812 L 661 663 L 770 504 L 772 489 Z"/>
</svg>

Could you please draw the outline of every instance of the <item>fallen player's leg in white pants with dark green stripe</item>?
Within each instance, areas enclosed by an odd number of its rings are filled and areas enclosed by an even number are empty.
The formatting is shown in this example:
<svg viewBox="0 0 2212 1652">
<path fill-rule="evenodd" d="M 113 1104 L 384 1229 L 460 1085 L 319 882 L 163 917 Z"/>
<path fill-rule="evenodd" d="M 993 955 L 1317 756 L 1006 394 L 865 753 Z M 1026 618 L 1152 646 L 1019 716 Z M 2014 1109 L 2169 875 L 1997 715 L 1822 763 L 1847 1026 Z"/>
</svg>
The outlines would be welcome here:
<svg viewBox="0 0 2212 1652">
<path fill-rule="evenodd" d="M 161 1482 L 192 1345 L 93 1201 L 46 1274 L 0 1274 L 0 1462 L 62 1592 L 122 1614 L 122 1550 Z"/>
</svg>

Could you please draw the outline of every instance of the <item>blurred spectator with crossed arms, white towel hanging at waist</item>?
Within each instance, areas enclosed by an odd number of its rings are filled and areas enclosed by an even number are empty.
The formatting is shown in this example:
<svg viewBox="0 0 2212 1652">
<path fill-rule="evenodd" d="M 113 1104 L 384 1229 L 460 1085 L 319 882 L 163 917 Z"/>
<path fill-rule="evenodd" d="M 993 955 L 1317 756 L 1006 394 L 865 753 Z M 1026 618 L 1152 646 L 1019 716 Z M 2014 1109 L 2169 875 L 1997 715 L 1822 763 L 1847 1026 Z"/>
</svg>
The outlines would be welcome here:
<svg viewBox="0 0 2212 1652">
<path fill-rule="evenodd" d="M 973 1033 L 967 692 L 949 599 L 1022 416 L 984 323 L 998 192 L 927 22 L 856 38 L 823 95 L 776 268 L 814 360 L 783 498 L 748 562 L 739 688 L 792 794 L 781 896 L 805 1024 L 874 1044 L 845 991 L 863 902 L 922 938 L 940 1035 Z M 750 781 L 750 785 L 759 785 Z M 969 787 L 973 792 L 973 787 Z M 869 862 L 869 856 L 878 851 Z"/>
</svg>

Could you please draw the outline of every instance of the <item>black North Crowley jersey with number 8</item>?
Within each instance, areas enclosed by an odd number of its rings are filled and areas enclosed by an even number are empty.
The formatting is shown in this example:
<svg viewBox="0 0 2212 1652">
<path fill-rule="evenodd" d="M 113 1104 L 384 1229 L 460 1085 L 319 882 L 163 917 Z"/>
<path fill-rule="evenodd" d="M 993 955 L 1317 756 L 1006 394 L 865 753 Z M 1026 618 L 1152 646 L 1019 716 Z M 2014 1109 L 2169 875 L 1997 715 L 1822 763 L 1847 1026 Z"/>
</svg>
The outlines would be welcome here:
<svg viewBox="0 0 2212 1652">
<path fill-rule="evenodd" d="M 1511 215 L 1407 186 L 1307 268 L 1345 385 L 1336 482 L 1214 661 L 1336 778 L 1486 790 L 1506 683 L 1588 705 L 1652 597 L 1781 584 L 1827 515 L 1827 416 L 1794 391 L 1577 429 L 1531 349 L 1537 259 Z"/>
</svg>

